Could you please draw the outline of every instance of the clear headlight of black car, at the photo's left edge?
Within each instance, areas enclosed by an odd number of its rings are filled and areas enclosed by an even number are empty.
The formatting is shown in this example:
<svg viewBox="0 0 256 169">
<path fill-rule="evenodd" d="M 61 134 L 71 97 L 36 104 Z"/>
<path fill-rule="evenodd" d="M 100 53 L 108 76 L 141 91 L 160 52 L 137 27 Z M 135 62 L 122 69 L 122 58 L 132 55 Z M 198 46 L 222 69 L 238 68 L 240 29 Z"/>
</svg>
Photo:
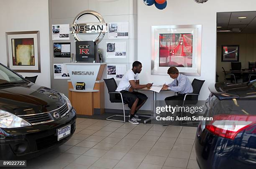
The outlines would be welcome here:
<svg viewBox="0 0 256 169">
<path fill-rule="evenodd" d="M 25 126 L 31 126 L 31 124 L 14 114 L 6 112 L 5 110 L 0 110 L 0 127 L 17 128 Z"/>
</svg>

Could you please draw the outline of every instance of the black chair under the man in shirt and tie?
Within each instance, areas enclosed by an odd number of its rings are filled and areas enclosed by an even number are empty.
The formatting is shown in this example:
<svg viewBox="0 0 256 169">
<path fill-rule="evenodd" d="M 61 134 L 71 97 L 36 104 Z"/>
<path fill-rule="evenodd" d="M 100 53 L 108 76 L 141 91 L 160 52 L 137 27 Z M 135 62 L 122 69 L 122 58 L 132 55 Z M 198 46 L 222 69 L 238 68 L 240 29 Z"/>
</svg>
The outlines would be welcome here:
<svg viewBox="0 0 256 169">
<path fill-rule="evenodd" d="M 205 80 L 198 80 L 198 79 L 194 79 L 192 82 L 192 87 L 193 87 L 193 92 L 192 93 L 187 93 L 185 94 L 185 97 L 183 99 L 183 104 L 182 107 L 184 107 L 184 105 L 189 106 L 189 105 L 195 105 L 197 104 L 198 101 L 198 96 L 200 94 L 200 90 L 202 88 L 202 85 L 204 84 Z M 187 100 L 186 98 L 190 96 L 190 99 Z M 189 102 L 189 104 L 186 104 L 186 102 Z M 182 117 L 183 112 L 181 112 L 181 117 Z M 193 123 L 198 123 L 198 122 L 185 122 L 186 124 L 193 124 Z M 181 122 L 181 124 L 184 124 Z"/>
</svg>

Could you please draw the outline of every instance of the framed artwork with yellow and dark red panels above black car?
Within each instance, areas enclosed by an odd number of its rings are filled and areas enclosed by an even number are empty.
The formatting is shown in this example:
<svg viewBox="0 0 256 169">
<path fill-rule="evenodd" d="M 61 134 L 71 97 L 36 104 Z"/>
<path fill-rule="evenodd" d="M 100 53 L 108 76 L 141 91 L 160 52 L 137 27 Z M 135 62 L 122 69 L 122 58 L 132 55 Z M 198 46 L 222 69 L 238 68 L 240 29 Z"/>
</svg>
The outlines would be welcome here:
<svg viewBox="0 0 256 169">
<path fill-rule="evenodd" d="M 41 72 L 39 31 L 6 32 L 7 65 L 15 72 Z"/>
</svg>

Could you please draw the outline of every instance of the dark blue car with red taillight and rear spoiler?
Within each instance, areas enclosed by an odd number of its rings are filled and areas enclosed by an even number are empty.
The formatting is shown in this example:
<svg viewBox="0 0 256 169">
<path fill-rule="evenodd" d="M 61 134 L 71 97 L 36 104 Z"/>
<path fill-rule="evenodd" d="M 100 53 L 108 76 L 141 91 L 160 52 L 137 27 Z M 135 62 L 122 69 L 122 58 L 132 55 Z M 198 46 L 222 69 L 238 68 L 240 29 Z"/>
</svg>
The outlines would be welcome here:
<svg viewBox="0 0 256 169">
<path fill-rule="evenodd" d="M 256 81 L 210 85 L 205 117 L 197 127 L 200 169 L 256 169 Z"/>
</svg>

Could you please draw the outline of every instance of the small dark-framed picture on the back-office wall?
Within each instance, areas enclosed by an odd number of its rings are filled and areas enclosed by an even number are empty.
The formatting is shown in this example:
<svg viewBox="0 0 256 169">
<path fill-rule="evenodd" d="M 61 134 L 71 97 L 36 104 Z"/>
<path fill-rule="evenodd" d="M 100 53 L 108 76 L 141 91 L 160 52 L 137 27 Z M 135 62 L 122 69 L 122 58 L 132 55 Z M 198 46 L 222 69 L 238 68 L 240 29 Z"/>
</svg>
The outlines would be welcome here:
<svg viewBox="0 0 256 169">
<path fill-rule="evenodd" d="M 239 45 L 222 45 L 221 62 L 239 62 Z"/>
</svg>

